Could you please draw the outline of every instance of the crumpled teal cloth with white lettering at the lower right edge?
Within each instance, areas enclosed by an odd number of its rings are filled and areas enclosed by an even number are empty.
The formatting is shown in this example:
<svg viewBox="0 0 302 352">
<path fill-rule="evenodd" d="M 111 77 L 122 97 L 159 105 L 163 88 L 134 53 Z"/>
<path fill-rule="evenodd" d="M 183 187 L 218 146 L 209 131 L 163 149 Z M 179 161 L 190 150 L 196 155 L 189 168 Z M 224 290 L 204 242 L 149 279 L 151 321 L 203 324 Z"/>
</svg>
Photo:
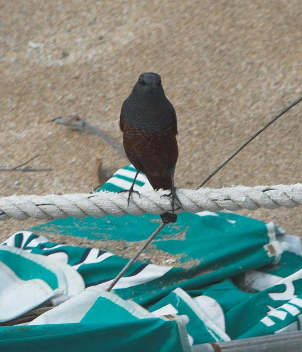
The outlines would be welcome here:
<svg viewBox="0 0 302 352">
<path fill-rule="evenodd" d="M 254 293 L 225 314 L 232 339 L 301 329 L 301 268 L 301 255 L 284 252 L 278 265 L 244 274 L 245 287 Z M 231 324 L 234 320 L 238 321 L 236 328 Z"/>
</svg>

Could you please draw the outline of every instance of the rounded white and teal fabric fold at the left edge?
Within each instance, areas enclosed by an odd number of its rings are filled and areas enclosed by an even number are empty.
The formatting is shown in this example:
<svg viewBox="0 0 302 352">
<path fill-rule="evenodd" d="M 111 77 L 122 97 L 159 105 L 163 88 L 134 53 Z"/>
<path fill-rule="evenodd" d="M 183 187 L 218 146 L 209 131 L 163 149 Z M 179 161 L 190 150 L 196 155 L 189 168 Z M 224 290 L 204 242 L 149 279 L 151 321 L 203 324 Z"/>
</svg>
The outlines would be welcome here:
<svg viewBox="0 0 302 352">
<path fill-rule="evenodd" d="M 0 322 L 17 318 L 52 300 L 53 304 L 85 288 L 70 266 L 44 255 L 0 246 Z"/>
</svg>

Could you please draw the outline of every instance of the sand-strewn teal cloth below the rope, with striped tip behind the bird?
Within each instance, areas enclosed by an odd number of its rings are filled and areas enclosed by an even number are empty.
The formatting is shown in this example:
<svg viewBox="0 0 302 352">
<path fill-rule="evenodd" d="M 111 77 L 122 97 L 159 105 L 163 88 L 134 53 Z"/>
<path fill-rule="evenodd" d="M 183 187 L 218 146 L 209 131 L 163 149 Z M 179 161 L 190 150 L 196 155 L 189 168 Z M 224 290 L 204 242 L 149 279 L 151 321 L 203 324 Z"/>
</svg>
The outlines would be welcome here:
<svg viewBox="0 0 302 352">
<path fill-rule="evenodd" d="M 134 175 L 135 169 L 128 165 L 118 170 L 99 191 L 118 192 L 129 188 Z M 134 189 L 143 192 L 145 186 L 145 177 L 139 175 Z M 92 240 L 122 240 L 123 245 L 127 246 L 146 239 L 159 223 L 159 216 L 150 214 L 120 218 L 67 218 L 30 230 L 46 236 L 47 233 L 56 233 Z M 277 228 L 272 224 L 268 226 L 262 221 L 232 213 L 180 214 L 178 222 L 165 226 L 152 242 L 163 255 L 167 253 L 177 259 L 167 260 L 165 266 L 155 266 L 140 257 L 115 286 L 115 292 L 124 299 L 133 299 L 148 306 L 178 287 L 193 290 L 262 267 L 279 257 L 276 235 Z M 277 246 L 273 254 L 267 247 L 269 243 L 272 247 Z M 42 244 L 35 247 L 33 252 L 47 255 L 65 252 L 69 265 L 81 262 L 88 255 L 85 248 L 62 246 L 53 249 L 52 246 L 55 244 Z M 126 262 L 127 259 L 110 256 L 99 263 L 82 266 L 78 271 L 87 286 L 102 284 L 106 287 Z"/>
</svg>

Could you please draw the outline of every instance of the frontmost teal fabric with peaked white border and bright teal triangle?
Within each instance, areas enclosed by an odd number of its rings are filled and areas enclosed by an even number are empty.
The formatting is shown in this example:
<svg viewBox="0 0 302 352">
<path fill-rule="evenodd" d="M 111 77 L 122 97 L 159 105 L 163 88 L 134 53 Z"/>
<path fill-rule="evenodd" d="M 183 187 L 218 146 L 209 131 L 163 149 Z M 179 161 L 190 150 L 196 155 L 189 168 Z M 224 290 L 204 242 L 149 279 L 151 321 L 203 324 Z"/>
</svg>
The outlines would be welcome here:
<svg viewBox="0 0 302 352">
<path fill-rule="evenodd" d="M 0 350 L 189 352 L 187 318 L 157 318 L 93 287 L 24 326 L 0 327 Z"/>
</svg>

